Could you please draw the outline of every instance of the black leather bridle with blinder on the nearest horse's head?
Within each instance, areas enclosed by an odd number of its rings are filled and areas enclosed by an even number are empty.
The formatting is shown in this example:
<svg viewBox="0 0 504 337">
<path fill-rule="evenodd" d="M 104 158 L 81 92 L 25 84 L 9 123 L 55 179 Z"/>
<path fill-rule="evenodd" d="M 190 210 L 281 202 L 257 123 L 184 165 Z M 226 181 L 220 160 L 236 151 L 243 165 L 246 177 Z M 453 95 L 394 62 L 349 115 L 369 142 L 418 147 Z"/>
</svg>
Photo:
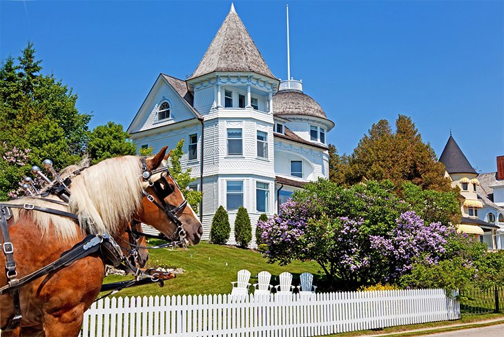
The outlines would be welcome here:
<svg viewBox="0 0 504 337">
<path fill-rule="evenodd" d="M 172 238 L 170 238 L 171 243 L 168 243 L 166 245 L 161 245 L 162 247 L 176 247 L 176 246 L 181 246 L 186 248 L 187 247 L 187 233 L 186 230 L 184 229 L 184 224 L 182 221 L 180 221 L 180 218 L 178 217 L 178 214 L 184 210 L 187 206 L 187 201 L 184 200 L 180 205 L 175 206 L 171 205 L 170 203 L 166 203 L 164 201 L 164 198 L 175 192 L 173 187 L 166 181 L 166 177 L 169 176 L 171 177 L 170 170 L 168 169 L 168 166 L 162 165 L 162 167 L 158 167 L 155 170 L 148 170 L 147 167 L 147 161 L 145 158 L 140 159 L 140 163 L 142 164 L 142 193 L 144 196 L 146 196 L 148 201 L 151 201 L 154 205 L 156 205 L 159 210 L 162 210 L 168 218 L 175 223 L 177 226 L 177 229 L 175 229 L 175 232 L 173 233 Z M 172 178 L 173 180 L 173 178 Z M 173 180 L 175 183 L 175 181 Z M 176 185 L 177 183 L 175 183 Z M 151 187 L 151 189 L 154 191 L 155 196 L 157 196 L 157 199 L 152 195 L 147 192 L 147 188 Z M 178 185 L 177 185 L 177 188 Z M 178 236 L 178 237 L 176 237 Z M 148 248 L 148 247 L 142 247 L 142 248 Z"/>
</svg>

